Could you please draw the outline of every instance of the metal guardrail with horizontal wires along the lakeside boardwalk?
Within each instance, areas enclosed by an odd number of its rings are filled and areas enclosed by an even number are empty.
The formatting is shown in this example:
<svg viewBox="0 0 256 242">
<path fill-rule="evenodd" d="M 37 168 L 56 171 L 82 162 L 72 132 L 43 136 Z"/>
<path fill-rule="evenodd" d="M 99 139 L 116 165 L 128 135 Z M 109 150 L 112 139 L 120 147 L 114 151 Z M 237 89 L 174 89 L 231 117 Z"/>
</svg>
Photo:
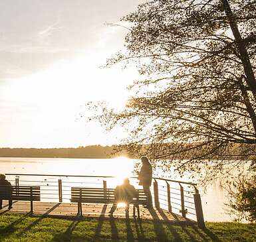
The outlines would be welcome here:
<svg viewBox="0 0 256 242">
<path fill-rule="evenodd" d="M 115 176 L 75 176 L 60 174 L 5 174 L 15 186 L 41 186 L 41 201 L 70 202 L 72 186 L 95 188 L 115 188 Z M 35 179 L 37 178 L 37 179 Z M 137 177 L 130 177 L 137 188 Z M 164 208 L 170 213 L 196 220 L 199 227 L 205 227 L 201 197 L 197 184 L 166 178 L 153 178 L 151 187 L 154 206 Z"/>
</svg>

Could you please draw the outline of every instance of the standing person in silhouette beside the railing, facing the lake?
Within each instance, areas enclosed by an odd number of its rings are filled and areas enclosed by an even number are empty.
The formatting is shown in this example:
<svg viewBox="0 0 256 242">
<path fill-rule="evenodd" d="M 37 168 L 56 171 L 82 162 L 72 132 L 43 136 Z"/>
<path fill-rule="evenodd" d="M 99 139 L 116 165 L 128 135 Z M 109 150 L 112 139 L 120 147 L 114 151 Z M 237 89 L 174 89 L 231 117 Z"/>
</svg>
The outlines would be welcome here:
<svg viewBox="0 0 256 242">
<path fill-rule="evenodd" d="M 147 156 L 142 156 L 140 160 L 142 161 L 142 168 L 140 168 L 140 172 L 138 172 L 138 180 L 140 180 L 139 185 L 143 186 L 144 190 L 148 190 L 148 208 L 152 208 L 152 195 L 150 192 L 152 166 Z"/>
</svg>

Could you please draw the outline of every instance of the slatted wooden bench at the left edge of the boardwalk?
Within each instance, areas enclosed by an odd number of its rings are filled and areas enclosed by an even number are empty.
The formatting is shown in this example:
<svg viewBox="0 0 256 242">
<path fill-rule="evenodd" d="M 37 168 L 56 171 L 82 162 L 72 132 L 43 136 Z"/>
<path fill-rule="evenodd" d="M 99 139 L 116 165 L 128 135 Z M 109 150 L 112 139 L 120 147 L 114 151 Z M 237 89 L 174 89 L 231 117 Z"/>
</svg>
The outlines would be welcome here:
<svg viewBox="0 0 256 242">
<path fill-rule="evenodd" d="M 40 201 L 40 186 L 11 186 L 0 185 L 1 200 L 30 201 L 31 213 L 33 213 L 33 201 Z"/>
</svg>

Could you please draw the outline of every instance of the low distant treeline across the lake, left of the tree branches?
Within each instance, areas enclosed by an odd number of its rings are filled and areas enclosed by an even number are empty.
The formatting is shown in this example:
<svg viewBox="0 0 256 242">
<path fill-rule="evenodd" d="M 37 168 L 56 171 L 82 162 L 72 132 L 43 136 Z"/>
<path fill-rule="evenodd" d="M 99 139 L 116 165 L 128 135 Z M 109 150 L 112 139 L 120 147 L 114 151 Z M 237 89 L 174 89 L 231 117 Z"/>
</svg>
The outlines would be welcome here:
<svg viewBox="0 0 256 242">
<path fill-rule="evenodd" d="M 90 145 L 78 148 L 24 149 L 0 148 L 1 157 L 40 157 L 40 158 L 111 158 L 113 147 Z M 121 152 L 120 154 L 124 154 Z M 115 154 L 117 156 L 117 154 Z"/>
</svg>

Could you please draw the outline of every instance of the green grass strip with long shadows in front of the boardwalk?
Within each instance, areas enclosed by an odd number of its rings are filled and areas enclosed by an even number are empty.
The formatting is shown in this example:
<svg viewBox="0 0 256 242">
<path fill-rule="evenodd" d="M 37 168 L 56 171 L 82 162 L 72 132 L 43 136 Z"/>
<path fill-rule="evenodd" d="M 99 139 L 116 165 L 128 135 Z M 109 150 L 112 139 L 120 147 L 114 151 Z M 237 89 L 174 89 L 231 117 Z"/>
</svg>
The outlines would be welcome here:
<svg viewBox="0 0 256 242">
<path fill-rule="evenodd" d="M 256 241 L 256 224 L 170 225 L 134 219 L 61 219 L 29 214 L 0 215 L 0 241 Z"/>
</svg>

